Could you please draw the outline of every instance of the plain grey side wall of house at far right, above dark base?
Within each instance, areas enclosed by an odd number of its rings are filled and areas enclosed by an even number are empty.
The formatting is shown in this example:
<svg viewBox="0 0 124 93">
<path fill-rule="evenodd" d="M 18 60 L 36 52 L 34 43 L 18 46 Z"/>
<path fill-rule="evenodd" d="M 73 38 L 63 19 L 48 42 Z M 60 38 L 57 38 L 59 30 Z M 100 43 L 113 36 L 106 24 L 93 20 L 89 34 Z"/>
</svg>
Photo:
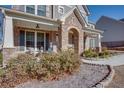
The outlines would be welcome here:
<svg viewBox="0 0 124 93">
<path fill-rule="evenodd" d="M 96 28 L 104 31 L 102 42 L 124 41 L 124 23 L 102 17 L 96 23 Z"/>
</svg>

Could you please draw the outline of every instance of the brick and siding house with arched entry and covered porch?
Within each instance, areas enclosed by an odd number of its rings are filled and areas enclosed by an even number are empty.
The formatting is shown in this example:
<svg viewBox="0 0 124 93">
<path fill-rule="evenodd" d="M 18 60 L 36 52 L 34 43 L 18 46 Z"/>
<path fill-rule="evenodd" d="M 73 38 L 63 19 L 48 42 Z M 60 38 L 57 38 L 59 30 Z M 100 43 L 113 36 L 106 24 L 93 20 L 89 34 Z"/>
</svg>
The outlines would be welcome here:
<svg viewBox="0 0 124 93">
<path fill-rule="evenodd" d="M 88 22 L 87 6 L 82 5 L 13 5 L 1 8 L 4 13 L 3 54 L 9 58 L 16 51 L 33 48 L 57 52 L 73 47 L 101 50 L 101 33 Z"/>
</svg>

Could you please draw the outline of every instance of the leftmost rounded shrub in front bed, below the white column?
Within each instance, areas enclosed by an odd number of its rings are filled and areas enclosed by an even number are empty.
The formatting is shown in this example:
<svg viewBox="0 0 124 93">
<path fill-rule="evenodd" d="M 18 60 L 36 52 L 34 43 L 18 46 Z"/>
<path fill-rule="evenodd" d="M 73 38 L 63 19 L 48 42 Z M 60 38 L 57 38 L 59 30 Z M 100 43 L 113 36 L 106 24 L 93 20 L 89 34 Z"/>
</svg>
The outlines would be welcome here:
<svg viewBox="0 0 124 93">
<path fill-rule="evenodd" d="M 13 74 L 26 75 L 33 69 L 36 58 L 29 54 L 19 54 L 17 57 L 9 60 L 7 67 Z"/>
</svg>

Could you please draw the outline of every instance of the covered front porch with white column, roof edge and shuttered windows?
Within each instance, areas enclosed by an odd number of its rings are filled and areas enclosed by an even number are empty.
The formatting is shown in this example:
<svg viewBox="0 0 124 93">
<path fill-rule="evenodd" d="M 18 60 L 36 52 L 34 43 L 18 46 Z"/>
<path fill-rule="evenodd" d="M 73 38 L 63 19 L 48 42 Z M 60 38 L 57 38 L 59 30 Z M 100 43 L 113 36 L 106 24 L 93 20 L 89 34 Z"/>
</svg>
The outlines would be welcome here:
<svg viewBox="0 0 124 93">
<path fill-rule="evenodd" d="M 16 52 L 57 52 L 61 48 L 60 21 L 5 10 L 3 65 Z"/>
</svg>

